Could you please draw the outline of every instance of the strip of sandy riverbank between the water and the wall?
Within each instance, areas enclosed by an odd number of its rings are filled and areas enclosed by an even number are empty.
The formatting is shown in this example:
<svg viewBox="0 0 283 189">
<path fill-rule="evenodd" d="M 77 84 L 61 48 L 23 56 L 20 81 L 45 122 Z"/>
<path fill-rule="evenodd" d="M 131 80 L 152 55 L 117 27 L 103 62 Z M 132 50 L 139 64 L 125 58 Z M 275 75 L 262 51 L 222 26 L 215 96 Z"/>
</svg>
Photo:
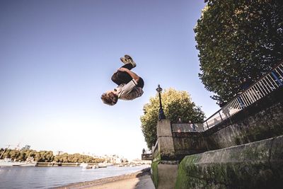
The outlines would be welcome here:
<svg viewBox="0 0 283 189">
<path fill-rule="evenodd" d="M 82 183 L 73 183 L 59 187 L 66 188 L 88 188 L 88 189 L 154 189 L 154 183 L 151 181 L 150 168 L 125 174 L 122 176 L 114 176 L 101 178 L 96 181 L 86 181 Z"/>
</svg>

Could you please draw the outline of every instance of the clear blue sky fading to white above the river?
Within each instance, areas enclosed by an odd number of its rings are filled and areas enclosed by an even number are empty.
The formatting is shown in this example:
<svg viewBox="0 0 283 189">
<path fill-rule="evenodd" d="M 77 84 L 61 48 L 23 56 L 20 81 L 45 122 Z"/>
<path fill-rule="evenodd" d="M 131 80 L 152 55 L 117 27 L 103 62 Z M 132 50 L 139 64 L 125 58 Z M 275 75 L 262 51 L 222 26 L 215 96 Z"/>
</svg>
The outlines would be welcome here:
<svg viewBox="0 0 283 189">
<path fill-rule="evenodd" d="M 156 86 L 219 108 L 198 78 L 193 28 L 203 1 L 0 1 L 0 147 L 139 158 L 142 107 Z M 101 102 L 129 54 L 144 95 Z"/>
</svg>

